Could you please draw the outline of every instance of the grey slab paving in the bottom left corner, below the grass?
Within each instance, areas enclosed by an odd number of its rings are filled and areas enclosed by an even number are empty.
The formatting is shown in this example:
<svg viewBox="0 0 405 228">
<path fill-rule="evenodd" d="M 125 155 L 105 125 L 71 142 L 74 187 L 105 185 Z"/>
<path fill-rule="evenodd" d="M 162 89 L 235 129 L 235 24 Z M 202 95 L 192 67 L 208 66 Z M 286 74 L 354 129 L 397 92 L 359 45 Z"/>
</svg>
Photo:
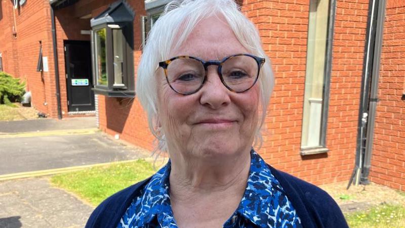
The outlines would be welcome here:
<svg viewBox="0 0 405 228">
<path fill-rule="evenodd" d="M 84 227 L 92 211 L 45 177 L 0 182 L 0 227 Z"/>
</svg>

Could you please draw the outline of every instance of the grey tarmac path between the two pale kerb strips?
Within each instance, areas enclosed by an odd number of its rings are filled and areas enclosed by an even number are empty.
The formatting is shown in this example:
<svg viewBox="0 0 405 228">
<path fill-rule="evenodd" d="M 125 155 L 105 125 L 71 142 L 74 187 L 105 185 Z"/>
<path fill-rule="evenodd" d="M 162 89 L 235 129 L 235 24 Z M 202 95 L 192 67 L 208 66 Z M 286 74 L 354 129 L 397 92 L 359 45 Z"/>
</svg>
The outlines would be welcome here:
<svg viewBox="0 0 405 228">
<path fill-rule="evenodd" d="M 0 176 L 10 173 L 90 165 L 147 157 L 102 132 L 1 138 Z M 67 132 L 67 131 L 65 131 Z"/>
</svg>

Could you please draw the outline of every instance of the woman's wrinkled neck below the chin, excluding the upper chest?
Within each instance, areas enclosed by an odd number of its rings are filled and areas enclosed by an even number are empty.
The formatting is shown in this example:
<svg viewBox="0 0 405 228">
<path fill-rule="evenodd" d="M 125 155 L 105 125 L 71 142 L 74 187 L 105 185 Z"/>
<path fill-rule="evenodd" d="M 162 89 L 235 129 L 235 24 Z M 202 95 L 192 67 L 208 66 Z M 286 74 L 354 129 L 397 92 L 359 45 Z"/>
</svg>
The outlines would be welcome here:
<svg viewBox="0 0 405 228">
<path fill-rule="evenodd" d="M 224 192 L 241 197 L 249 175 L 249 151 L 215 158 L 171 158 L 171 199 L 186 200 Z"/>
</svg>

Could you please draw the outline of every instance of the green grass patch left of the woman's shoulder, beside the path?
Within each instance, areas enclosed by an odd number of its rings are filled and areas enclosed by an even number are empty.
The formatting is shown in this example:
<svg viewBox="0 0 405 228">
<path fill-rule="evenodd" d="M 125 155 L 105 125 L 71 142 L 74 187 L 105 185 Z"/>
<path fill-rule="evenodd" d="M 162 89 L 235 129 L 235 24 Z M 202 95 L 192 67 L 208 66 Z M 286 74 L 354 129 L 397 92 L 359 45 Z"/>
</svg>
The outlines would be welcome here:
<svg viewBox="0 0 405 228">
<path fill-rule="evenodd" d="M 143 180 L 155 171 L 145 160 L 93 167 L 54 175 L 51 183 L 96 206 L 121 189 Z"/>
</svg>

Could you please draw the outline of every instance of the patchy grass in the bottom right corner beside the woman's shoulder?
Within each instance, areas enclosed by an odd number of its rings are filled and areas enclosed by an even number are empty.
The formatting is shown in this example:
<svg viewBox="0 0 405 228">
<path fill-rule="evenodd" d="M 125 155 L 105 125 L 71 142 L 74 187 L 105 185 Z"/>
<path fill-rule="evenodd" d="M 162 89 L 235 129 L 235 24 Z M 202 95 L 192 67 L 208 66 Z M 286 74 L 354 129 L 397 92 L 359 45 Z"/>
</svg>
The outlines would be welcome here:
<svg viewBox="0 0 405 228">
<path fill-rule="evenodd" d="M 349 227 L 405 227 L 405 206 L 384 204 L 345 214 Z"/>
</svg>

